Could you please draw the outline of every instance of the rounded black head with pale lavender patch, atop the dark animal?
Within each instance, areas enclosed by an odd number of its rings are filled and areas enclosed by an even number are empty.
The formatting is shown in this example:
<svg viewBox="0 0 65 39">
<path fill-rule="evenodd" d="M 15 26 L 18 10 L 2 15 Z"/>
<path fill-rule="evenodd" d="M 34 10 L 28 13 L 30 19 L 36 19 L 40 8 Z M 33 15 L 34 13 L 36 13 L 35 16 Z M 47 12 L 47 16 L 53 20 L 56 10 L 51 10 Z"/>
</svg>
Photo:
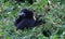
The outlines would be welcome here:
<svg viewBox="0 0 65 39">
<path fill-rule="evenodd" d="M 34 12 L 31 10 L 28 10 L 28 9 L 23 9 L 18 15 L 23 16 L 25 18 L 32 18 Z"/>
</svg>

